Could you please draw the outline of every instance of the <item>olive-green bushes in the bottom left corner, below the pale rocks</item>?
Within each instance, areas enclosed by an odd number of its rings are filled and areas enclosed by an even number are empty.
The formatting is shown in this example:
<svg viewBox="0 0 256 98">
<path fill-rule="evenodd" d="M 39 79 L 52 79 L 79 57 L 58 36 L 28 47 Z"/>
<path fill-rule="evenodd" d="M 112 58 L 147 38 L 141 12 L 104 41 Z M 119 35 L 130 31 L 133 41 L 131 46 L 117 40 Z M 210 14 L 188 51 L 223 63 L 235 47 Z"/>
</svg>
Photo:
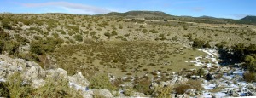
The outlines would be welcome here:
<svg viewBox="0 0 256 98">
<path fill-rule="evenodd" d="M 6 82 L 0 83 L 0 95 L 11 98 L 34 98 L 34 97 L 68 97 L 81 98 L 82 96 L 68 86 L 66 78 L 46 78 L 45 84 L 38 89 L 32 88 L 30 83 L 24 82 L 19 72 L 10 75 Z"/>
</svg>

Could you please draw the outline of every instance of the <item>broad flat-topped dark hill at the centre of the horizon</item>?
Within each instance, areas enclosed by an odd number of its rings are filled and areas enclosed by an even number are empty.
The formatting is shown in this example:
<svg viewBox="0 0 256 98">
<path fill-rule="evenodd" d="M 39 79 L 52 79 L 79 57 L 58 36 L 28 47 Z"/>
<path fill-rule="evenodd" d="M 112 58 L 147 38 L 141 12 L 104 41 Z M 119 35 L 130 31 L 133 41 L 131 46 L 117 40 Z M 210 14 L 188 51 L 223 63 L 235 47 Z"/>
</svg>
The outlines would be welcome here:
<svg viewBox="0 0 256 98">
<path fill-rule="evenodd" d="M 129 11 L 125 13 L 118 13 L 118 12 L 111 12 L 108 14 L 99 14 L 104 16 L 123 16 L 123 17 L 130 17 L 130 16 L 143 16 L 143 17 L 166 17 L 171 16 L 170 14 L 166 14 L 161 11 Z"/>
</svg>

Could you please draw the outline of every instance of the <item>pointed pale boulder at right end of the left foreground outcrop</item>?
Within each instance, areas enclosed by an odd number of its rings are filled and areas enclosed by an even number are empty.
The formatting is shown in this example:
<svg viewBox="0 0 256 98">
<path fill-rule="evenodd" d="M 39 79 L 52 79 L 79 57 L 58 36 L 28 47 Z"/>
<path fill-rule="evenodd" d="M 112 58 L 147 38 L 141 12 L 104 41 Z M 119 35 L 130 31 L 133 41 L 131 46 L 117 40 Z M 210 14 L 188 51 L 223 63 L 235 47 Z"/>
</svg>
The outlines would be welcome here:
<svg viewBox="0 0 256 98">
<path fill-rule="evenodd" d="M 77 84 L 82 87 L 88 87 L 90 82 L 84 78 L 81 72 L 78 72 L 77 74 L 74 74 L 73 76 L 68 76 L 69 82 L 73 84 Z"/>
</svg>

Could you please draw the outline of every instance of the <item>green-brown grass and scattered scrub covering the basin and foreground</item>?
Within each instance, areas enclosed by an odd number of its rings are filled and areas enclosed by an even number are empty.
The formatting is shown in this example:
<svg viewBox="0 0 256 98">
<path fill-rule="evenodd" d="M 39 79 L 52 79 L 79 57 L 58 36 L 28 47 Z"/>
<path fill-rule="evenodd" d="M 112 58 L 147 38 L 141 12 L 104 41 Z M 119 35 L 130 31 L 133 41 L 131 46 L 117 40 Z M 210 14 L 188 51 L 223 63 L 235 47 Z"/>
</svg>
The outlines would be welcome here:
<svg viewBox="0 0 256 98">
<path fill-rule="evenodd" d="M 0 53 L 36 61 L 40 66 L 49 56 L 49 61 L 65 69 L 69 75 L 76 72 L 86 74 L 90 89 L 116 90 L 120 89 L 120 84 L 132 84 L 131 88 L 124 90 L 127 96 L 141 92 L 154 97 L 171 97 L 170 94 L 184 94 L 187 89 L 200 91 L 201 81 L 197 80 L 149 89 L 152 82 L 159 84 L 172 80 L 172 72 L 187 78 L 198 75 L 200 79 L 206 71 L 217 72 L 218 66 L 207 68 L 189 62 L 200 57 L 198 61 L 204 65 L 215 63 L 208 61 L 210 59 L 204 52 L 193 48 L 217 49 L 218 54 L 225 57 L 218 58 L 222 59 L 219 64 L 222 61 L 230 65 L 241 63 L 247 71 L 243 80 L 248 83 L 256 81 L 255 26 L 234 25 L 236 20 L 197 20 L 162 13 L 146 14 L 157 17 L 0 14 Z M 162 18 L 160 14 L 166 17 Z M 107 74 L 117 79 L 109 81 Z M 217 79 L 223 77 L 223 73 L 216 74 Z M 124 76 L 126 78 L 122 78 Z M 9 82 L 0 83 L 0 96 L 81 97 L 79 91 L 67 86 L 67 79 L 47 78 L 43 87 L 32 89 L 29 84 L 21 84 L 23 80 L 18 77 L 20 74 L 15 73 Z"/>
</svg>

